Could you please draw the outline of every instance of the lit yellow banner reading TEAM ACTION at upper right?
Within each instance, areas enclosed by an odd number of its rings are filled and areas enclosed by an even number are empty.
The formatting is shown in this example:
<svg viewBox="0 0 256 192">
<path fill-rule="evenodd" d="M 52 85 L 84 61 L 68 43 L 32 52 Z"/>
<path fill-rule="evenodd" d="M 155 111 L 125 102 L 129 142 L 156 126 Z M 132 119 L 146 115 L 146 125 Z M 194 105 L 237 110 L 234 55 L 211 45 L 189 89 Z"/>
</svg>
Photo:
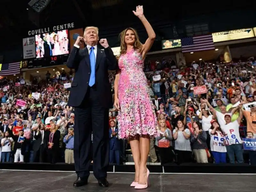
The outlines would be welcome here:
<svg viewBox="0 0 256 192">
<path fill-rule="evenodd" d="M 252 28 L 222 31 L 212 34 L 213 42 L 232 41 L 254 37 Z"/>
</svg>

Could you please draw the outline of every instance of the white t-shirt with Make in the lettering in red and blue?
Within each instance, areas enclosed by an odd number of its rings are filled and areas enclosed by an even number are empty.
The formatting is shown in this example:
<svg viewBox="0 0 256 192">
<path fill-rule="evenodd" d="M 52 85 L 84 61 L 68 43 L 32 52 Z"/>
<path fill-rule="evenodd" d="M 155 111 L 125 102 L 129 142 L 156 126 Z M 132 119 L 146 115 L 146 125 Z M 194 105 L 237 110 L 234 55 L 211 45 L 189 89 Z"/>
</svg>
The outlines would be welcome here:
<svg viewBox="0 0 256 192">
<path fill-rule="evenodd" d="M 226 146 L 223 146 L 224 142 L 224 135 L 220 131 L 216 131 L 215 134 L 211 134 L 212 129 L 209 129 L 209 134 L 211 137 L 211 151 L 216 151 L 216 152 L 222 152 L 225 153 L 227 152 Z"/>
</svg>

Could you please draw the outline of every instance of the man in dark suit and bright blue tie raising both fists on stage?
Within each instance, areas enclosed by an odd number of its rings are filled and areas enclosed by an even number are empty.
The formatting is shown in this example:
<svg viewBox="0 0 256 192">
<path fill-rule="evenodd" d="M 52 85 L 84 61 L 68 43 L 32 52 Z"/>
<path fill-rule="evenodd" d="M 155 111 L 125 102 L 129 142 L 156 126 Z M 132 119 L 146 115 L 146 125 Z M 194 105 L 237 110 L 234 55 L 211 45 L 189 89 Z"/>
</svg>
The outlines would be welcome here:
<svg viewBox="0 0 256 192">
<path fill-rule="evenodd" d="M 113 107 L 108 69 L 116 70 L 117 60 L 106 39 L 97 47 L 98 28 L 86 27 L 84 37 L 78 37 L 67 66 L 75 69 L 68 106 L 75 107 L 74 159 L 77 180 L 74 187 L 87 184 L 91 159 L 90 144 L 93 132 L 93 174 L 101 187 L 108 187 L 109 162 L 108 110 Z M 79 49 L 85 42 L 84 49 Z"/>
</svg>

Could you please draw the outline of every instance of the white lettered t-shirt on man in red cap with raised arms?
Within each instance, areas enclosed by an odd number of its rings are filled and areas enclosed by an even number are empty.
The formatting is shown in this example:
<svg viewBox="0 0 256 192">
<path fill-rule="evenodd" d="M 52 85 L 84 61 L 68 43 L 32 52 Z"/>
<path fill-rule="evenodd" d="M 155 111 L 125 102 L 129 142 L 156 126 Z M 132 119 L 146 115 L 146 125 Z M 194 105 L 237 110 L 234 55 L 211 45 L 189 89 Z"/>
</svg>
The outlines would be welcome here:
<svg viewBox="0 0 256 192">
<path fill-rule="evenodd" d="M 238 124 L 237 120 L 235 120 L 234 122 L 230 122 L 227 125 L 223 125 L 221 127 L 228 145 L 243 143 L 240 138 L 239 126 L 240 125 Z"/>
</svg>

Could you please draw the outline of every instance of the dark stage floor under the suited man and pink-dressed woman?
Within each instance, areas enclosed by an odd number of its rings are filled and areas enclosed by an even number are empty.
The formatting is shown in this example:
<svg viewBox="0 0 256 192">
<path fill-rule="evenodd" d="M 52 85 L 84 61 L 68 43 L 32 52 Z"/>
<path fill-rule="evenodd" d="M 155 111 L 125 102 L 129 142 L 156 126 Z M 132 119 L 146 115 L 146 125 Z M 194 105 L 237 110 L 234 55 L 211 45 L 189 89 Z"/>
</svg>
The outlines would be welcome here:
<svg viewBox="0 0 256 192">
<path fill-rule="evenodd" d="M 108 188 L 98 186 L 91 174 L 89 184 L 73 188 L 74 172 L 0 171 L 1 192 L 130 192 L 133 173 L 108 173 Z M 254 191 L 252 174 L 150 174 L 150 186 L 139 191 Z"/>
</svg>

